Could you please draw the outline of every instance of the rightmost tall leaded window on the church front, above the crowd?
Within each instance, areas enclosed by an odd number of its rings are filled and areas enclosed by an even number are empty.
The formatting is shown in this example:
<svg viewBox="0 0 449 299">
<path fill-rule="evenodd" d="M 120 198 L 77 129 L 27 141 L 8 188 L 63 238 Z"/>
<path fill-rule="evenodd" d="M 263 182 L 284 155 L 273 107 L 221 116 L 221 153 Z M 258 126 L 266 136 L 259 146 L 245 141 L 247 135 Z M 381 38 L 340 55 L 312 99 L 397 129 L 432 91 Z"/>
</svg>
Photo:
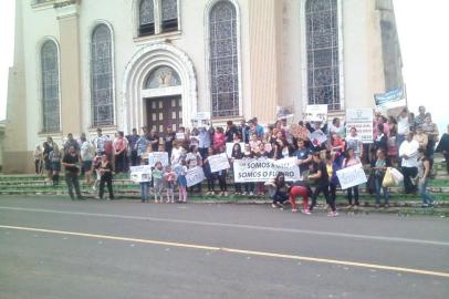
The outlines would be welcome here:
<svg viewBox="0 0 449 299">
<path fill-rule="evenodd" d="M 309 0 L 305 16 L 309 104 L 341 110 L 337 0 Z"/>
</svg>

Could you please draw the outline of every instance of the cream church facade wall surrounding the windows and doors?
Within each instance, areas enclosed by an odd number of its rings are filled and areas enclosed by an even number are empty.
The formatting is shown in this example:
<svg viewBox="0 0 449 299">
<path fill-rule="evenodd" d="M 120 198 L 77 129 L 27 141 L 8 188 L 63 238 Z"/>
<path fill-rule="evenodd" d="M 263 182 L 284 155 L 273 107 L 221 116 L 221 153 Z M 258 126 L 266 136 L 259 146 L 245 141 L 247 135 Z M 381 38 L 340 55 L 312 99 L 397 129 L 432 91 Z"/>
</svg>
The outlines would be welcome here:
<svg viewBox="0 0 449 299">
<path fill-rule="evenodd" d="M 163 32 L 163 2 L 154 0 L 155 34 L 139 34 L 140 0 L 18 0 L 14 65 L 9 75 L 4 171 L 30 172 L 35 144 L 51 135 L 93 134 L 92 35 L 98 24 L 111 30 L 113 123 L 106 133 L 146 125 L 144 99 L 180 96 L 181 122 L 211 111 L 210 20 L 224 0 L 177 0 L 177 28 Z M 258 116 L 274 121 L 276 106 L 297 116 L 307 104 L 307 0 L 226 0 L 236 13 L 239 113 L 213 123 Z M 316 0 L 309 0 L 316 1 Z M 338 25 L 340 110 L 373 106 L 373 94 L 403 82 L 400 51 L 389 0 L 335 0 Z M 43 132 L 42 44 L 58 45 L 59 132 Z M 391 50 L 393 49 L 393 50 Z M 148 74 L 166 65 L 179 86 L 144 87 Z"/>
</svg>

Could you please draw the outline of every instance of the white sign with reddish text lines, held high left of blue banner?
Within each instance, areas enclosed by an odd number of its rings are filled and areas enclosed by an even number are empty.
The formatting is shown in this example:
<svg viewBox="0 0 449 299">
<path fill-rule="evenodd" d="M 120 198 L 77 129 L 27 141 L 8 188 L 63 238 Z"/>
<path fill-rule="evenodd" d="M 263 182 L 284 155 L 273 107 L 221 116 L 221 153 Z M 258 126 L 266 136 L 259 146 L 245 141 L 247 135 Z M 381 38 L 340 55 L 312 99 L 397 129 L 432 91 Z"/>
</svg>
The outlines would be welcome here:
<svg viewBox="0 0 449 299">
<path fill-rule="evenodd" d="M 352 127 L 357 130 L 357 135 L 363 143 L 373 143 L 373 109 L 347 109 L 347 134 L 349 134 Z"/>
</svg>

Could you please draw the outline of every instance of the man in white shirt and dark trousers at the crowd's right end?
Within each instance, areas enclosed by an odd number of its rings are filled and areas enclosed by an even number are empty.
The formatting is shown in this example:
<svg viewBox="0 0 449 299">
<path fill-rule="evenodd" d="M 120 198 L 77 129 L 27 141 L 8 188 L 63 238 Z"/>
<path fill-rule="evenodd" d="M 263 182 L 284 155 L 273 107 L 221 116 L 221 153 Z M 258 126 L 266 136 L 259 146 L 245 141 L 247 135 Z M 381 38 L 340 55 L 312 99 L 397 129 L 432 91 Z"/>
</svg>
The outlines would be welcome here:
<svg viewBox="0 0 449 299">
<path fill-rule="evenodd" d="M 418 174 L 418 148 L 419 143 L 414 140 L 414 133 L 408 133 L 407 140 L 399 147 L 406 194 L 416 193 L 416 186 L 411 183 L 411 177 L 416 177 Z"/>
</svg>

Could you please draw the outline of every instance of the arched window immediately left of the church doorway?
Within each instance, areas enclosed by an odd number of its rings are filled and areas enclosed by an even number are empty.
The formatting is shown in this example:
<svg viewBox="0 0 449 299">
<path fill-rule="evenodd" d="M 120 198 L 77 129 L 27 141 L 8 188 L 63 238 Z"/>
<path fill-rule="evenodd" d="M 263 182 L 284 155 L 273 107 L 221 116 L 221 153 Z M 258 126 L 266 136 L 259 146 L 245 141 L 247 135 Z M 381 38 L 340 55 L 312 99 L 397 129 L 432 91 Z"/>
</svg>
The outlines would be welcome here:
<svg viewBox="0 0 449 299">
<path fill-rule="evenodd" d="M 92 34 L 92 125 L 114 124 L 112 32 L 106 24 L 100 24 Z"/>
</svg>

